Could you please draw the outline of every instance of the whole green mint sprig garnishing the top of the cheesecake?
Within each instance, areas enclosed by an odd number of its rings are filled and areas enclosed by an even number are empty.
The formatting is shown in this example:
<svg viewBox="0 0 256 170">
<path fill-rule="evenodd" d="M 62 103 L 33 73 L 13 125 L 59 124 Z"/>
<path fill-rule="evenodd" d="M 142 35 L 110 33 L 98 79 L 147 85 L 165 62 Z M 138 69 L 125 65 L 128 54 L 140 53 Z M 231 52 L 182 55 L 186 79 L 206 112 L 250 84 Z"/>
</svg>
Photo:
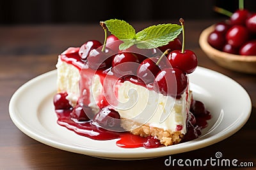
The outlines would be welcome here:
<svg viewBox="0 0 256 170">
<path fill-rule="evenodd" d="M 111 34 L 124 41 L 119 46 L 120 50 L 125 50 L 132 45 L 136 45 L 141 49 L 167 45 L 170 41 L 177 38 L 182 31 L 181 26 L 177 24 L 159 24 L 152 25 L 136 33 L 132 25 L 124 20 L 111 19 L 106 20 L 105 23 Z"/>
</svg>

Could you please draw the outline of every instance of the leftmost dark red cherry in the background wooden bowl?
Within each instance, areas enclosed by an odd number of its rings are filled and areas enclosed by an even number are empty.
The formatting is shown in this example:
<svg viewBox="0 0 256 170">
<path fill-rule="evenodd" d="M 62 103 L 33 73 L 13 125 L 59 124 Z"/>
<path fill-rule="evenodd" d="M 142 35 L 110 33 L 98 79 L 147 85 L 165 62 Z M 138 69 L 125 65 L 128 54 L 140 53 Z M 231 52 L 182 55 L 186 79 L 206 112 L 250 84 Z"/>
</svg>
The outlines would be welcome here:
<svg viewBox="0 0 256 170">
<path fill-rule="evenodd" d="M 207 41 L 213 48 L 218 50 L 221 50 L 226 43 L 226 39 L 225 36 L 223 36 L 223 33 L 217 31 L 211 32 L 207 38 Z"/>
</svg>

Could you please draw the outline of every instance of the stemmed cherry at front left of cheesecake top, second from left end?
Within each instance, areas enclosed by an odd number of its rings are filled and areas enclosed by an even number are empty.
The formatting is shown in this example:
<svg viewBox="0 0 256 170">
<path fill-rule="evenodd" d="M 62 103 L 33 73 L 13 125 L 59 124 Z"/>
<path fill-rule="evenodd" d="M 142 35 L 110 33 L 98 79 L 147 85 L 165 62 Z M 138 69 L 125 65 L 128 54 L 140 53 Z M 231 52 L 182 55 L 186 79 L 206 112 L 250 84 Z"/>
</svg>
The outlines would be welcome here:
<svg viewBox="0 0 256 170">
<path fill-rule="evenodd" d="M 93 49 L 87 58 L 88 66 L 92 69 L 102 69 L 111 67 L 113 52 L 109 48 L 105 52 L 101 51 L 101 47 Z"/>
</svg>

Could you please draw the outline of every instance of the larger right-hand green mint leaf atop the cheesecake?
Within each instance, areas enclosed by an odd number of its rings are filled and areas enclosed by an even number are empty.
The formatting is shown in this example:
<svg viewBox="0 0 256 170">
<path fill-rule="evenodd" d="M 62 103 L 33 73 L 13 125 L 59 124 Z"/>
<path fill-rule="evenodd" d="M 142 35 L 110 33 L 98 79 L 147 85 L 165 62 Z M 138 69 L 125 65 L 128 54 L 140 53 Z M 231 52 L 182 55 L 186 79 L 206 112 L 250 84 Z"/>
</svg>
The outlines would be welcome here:
<svg viewBox="0 0 256 170">
<path fill-rule="evenodd" d="M 157 48 L 167 45 L 179 36 L 182 28 L 177 24 L 152 25 L 136 34 L 136 45 L 141 49 Z"/>
</svg>

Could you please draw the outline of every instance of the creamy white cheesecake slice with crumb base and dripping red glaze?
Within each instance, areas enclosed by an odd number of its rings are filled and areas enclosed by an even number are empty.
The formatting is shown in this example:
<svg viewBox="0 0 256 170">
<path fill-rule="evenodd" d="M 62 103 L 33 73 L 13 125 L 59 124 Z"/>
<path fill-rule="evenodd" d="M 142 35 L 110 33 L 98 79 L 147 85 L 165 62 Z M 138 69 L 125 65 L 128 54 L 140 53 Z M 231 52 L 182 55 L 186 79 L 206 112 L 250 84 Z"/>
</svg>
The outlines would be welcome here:
<svg viewBox="0 0 256 170">
<path fill-rule="evenodd" d="M 67 93 L 72 108 L 81 104 L 97 115 L 102 108 L 111 107 L 119 113 L 125 131 L 154 136 L 165 146 L 180 143 L 186 134 L 192 100 L 189 83 L 179 97 L 162 94 L 135 76 L 116 76 L 111 67 L 90 68 L 81 60 L 79 48 L 61 53 L 56 67 L 58 93 Z"/>
</svg>

